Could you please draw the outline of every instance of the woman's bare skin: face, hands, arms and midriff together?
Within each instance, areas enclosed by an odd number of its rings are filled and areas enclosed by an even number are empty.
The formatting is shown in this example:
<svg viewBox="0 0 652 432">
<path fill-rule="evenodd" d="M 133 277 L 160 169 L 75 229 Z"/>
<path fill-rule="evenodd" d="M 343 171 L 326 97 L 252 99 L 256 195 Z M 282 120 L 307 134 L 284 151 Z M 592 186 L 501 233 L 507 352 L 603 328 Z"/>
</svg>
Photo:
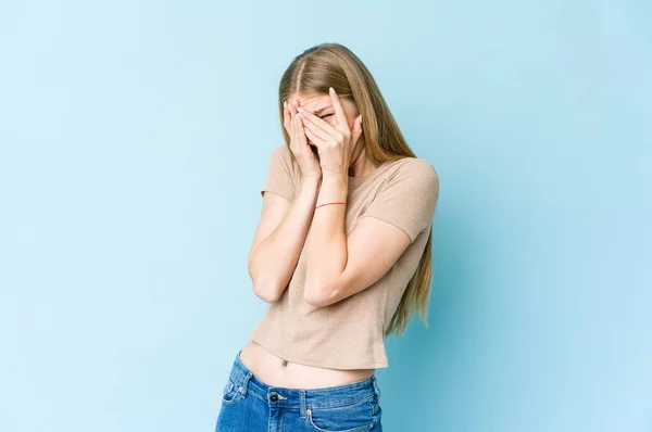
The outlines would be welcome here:
<svg viewBox="0 0 652 432">
<path fill-rule="evenodd" d="M 287 289 L 305 247 L 308 270 L 303 301 L 318 308 L 379 280 L 405 251 L 410 237 L 374 217 L 361 218 L 347 237 L 346 204 L 315 208 L 319 204 L 346 202 L 349 176 L 366 177 L 376 167 L 365 154 L 362 122 L 352 101 L 340 100 L 336 93 L 296 94 L 288 99 L 284 126 L 303 180 L 292 202 L 264 193 L 261 219 L 249 255 L 249 274 L 255 294 L 266 302 L 276 302 Z M 322 107 L 326 110 L 318 116 L 313 114 Z M 374 372 L 373 369 L 337 370 L 293 363 L 281 366 L 283 359 L 251 341 L 240 357 L 265 382 L 288 387 L 340 385 Z"/>
</svg>

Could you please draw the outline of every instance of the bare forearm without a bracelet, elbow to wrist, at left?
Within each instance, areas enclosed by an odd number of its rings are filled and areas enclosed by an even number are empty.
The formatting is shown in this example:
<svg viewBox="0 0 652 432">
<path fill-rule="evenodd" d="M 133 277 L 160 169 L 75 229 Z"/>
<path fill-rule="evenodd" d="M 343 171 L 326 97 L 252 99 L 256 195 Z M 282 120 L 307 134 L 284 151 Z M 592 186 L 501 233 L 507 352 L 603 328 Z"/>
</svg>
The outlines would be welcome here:
<svg viewBox="0 0 652 432">
<path fill-rule="evenodd" d="M 288 213 L 252 254 L 249 275 L 253 289 L 267 302 L 280 297 L 294 272 L 313 217 L 318 181 L 303 179 Z"/>
</svg>

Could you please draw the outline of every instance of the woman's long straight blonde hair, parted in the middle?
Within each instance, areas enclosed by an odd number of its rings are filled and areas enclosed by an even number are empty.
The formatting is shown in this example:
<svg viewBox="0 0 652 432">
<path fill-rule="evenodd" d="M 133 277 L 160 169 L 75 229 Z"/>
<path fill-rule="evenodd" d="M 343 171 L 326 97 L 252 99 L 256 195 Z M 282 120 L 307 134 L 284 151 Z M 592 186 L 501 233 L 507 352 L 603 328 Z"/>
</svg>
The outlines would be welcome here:
<svg viewBox="0 0 652 432">
<path fill-rule="evenodd" d="M 280 128 L 290 145 L 290 137 L 283 127 L 283 101 L 291 94 L 328 94 L 333 87 L 340 98 L 353 101 L 362 114 L 362 130 L 366 154 L 379 164 L 403 157 L 416 157 L 394 120 L 374 77 L 364 63 L 348 48 L 339 43 L 322 43 L 296 56 L 280 78 L 278 112 Z M 290 154 L 292 154 L 290 152 Z M 292 154 L 293 158 L 293 154 Z M 428 301 L 432 267 L 432 231 L 418 267 L 394 312 L 385 335 L 400 335 L 405 330 L 414 310 L 428 327 Z"/>
</svg>

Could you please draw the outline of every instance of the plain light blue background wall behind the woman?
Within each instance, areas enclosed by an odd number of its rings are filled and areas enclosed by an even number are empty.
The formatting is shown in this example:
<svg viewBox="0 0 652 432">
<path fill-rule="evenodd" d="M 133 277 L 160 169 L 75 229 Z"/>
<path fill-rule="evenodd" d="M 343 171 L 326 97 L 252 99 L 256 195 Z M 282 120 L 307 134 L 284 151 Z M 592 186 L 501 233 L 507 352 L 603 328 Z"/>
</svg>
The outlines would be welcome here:
<svg viewBox="0 0 652 432">
<path fill-rule="evenodd" d="M 336 41 L 440 176 L 387 431 L 652 431 L 652 7 L 3 2 L 0 430 L 210 431 L 278 80 Z"/>
</svg>

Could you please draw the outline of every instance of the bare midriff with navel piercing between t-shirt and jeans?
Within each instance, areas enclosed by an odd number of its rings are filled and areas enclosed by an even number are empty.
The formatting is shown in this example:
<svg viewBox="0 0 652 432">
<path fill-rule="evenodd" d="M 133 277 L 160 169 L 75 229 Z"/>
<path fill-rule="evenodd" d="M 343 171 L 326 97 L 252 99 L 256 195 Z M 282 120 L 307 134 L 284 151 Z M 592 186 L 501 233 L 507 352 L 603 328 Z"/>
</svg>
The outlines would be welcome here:
<svg viewBox="0 0 652 432">
<path fill-rule="evenodd" d="M 362 381 L 375 369 L 327 369 L 277 357 L 253 341 L 240 352 L 240 360 L 267 385 L 287 389 L 319 389 Z"/>
</svg>

